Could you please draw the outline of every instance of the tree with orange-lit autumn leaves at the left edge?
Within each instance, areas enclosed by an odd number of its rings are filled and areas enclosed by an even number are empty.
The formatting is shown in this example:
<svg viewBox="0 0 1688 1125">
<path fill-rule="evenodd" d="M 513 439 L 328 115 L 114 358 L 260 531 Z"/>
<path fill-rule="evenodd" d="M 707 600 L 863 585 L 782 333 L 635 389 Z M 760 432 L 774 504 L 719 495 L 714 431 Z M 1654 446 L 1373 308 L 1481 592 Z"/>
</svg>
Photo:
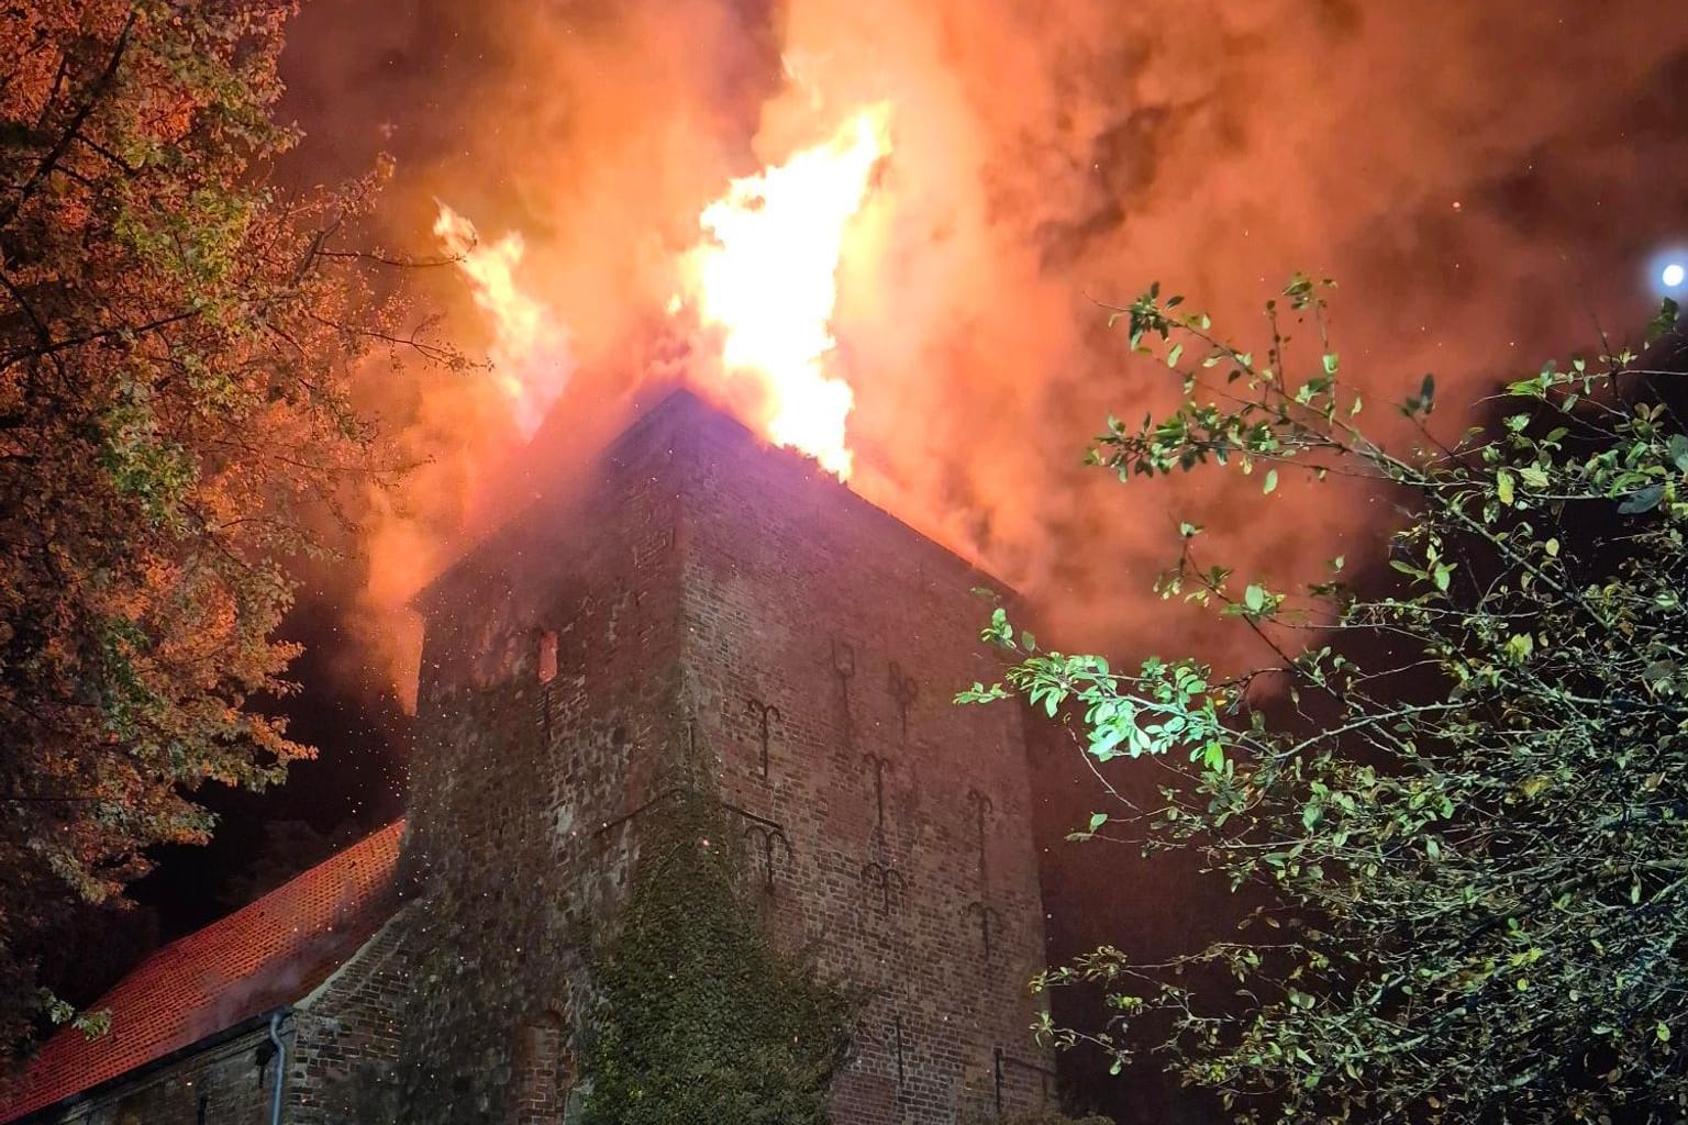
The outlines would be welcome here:
<svg viewBox="0 0 1688 1125">
<path fill-rule="evenodd" d="M 309 754 L 263 707 L 285 563 L 380 469 L 349 378 L 398 332 L 348 245 L 378 177 L 270 182 L 289 10 L 0 5 L 0 1049 L 69 1017 L 54 919 Z"/>
</svg>

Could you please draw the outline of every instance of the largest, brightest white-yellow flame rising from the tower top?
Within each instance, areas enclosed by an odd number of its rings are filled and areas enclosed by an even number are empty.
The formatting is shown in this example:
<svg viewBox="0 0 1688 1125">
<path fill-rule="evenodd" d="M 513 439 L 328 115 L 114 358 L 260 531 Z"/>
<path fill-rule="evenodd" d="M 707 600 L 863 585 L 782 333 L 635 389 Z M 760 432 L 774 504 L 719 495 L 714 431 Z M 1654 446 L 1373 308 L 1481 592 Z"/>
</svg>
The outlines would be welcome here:
<svg viewBox="0 0 1688 1125">
<path fill-rule="evenodd" d="M 836 275 L 873 167 L 891 150 L 888 113 L 863 110 L 830 142 L 733 180 L 699 216 L 709 240 L 684 261 L 687 300 L 722 331 L 724 371 L 755 381 L 766 435 L 839 477 L 851 472 L 854 395 L 827 373 Z"/>
</svg>

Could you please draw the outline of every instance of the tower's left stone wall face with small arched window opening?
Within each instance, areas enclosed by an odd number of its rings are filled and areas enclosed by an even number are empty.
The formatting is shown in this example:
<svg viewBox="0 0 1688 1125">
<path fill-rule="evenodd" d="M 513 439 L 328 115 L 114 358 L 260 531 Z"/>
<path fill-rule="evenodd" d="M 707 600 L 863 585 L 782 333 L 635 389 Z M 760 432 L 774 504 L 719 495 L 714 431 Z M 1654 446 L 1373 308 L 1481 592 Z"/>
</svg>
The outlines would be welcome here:
<svg viewBox="0 0 1688 1125">
<path fill-rule="evenodd" d="M 582 950 L 614 916 L 684 737 L 667 460 L 626 435 L 579 498 L 518 519 L 430 594 L 403 857 L 424 897 L 405 928 L 407 1123 L 555 1122 L 569 1096 L 569 1049 L 549 1093 L 535 1052 L 547 1029 L 577 1039 Z"/>
</svg>

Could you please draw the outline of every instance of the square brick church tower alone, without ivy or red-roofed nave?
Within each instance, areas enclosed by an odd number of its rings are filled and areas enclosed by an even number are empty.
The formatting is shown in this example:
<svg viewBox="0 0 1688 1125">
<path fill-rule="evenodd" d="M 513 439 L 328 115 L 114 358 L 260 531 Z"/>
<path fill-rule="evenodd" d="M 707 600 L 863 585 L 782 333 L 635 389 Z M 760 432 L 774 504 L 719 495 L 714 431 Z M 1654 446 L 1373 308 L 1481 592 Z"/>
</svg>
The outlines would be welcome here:
<svg viewBox="0 0 1688 1125">
<path fill-rule="evenodd" d="M 407 1120 L 559 1120 L 592 950 L 690 788 L 773 939 L 866 995 L 839 1125 L 1045 1105 L 1020 715 L 950 703 L 993 675 L 969 643 L 987 582 L 685 391 L 441 577 Z"/>
</svg>

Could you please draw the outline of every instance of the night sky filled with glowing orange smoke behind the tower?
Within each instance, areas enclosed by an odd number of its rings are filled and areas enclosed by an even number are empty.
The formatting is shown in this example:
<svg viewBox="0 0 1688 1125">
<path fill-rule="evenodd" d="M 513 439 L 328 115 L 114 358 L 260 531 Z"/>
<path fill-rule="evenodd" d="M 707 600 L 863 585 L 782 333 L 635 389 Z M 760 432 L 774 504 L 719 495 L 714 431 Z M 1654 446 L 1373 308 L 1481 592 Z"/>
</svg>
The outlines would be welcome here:
<svg viewBox="0 0 1688 1125">
<path fill-rule="evenodd" d="M 307 0 L 285 69 L 307 132 L 289 175 L 397 155 L 373 236 L 427 250 L 436 199 L 527 236 L 530 282 L 574 334 L 559 410 L 582 418 L 726 177 L 891 98 L 879 236 L 841 277 L 836 326 L 859 487 L 1026 589 L 1069 646 L 1128 659 L 1146 636 L 1207 643 L 1146 594 L 1180 516 L 1268 572 L 1357 558 L 1382 531 L 1354 496 L 1285 487 L 1259 521 L 1212 491 L 1121 496 L 1079 476 L 1109 410 L 1166 395 L 1124 374 L 1094 300 L 1163 278 L 1254 332 L 1290 270 L 1332 273 L 1361 383 L 1388 398 L 1435 369 L 1457 401 L 1597 324 L 1632 331 L 1658 255 L 1688 256 L 1688 20 L 1664 0 Z M 484 342 L 461 292 L 427 297 Z M 390 614 L 425 575 L 392 577 L 473 538 L 476 482 L 515 442 L 441 386 L 383 385 L 390 423 L 436 459 L 425 487 L 311 575 L 289 622 L 309 654 L 287 708 L 321 759 L 273 793 L 214 798 L 216 842 L 160 857 L 137 887 L 160 936 L 400 811 Z M 1193 880 L 1123 880 L 1123 860 L 1065 850 L 1082 781 L 1036 772 L 1062 951 L 1204 916 L 1202 894 L 1165 892 Z M 1124 891 L 1097 906 L 1102 884 Z M 93 977 L 150 934 L 143 914 L 120 929 L 140 938 L 110 943 L 123 951 Z"/>
</svg>

